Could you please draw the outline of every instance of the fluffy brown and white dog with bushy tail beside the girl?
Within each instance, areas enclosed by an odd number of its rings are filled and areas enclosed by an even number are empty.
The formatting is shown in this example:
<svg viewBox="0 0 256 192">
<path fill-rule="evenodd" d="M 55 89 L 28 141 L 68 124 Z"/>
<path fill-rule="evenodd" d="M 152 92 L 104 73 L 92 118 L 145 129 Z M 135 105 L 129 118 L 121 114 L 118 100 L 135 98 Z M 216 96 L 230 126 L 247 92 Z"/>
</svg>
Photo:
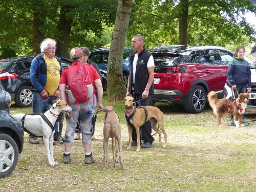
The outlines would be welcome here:
<svg viewBox="0 0 256 192">
<path fill-rule="evenodd" d="M 226 112 L 233 115 L 234 123 L 236 123 L 237 127 L 244 126 L 242 118 L 249 101 L 248 93 L 240 93 L 238 98 L 233 101 L 226 98 L 218 99 L 217 94 L 214 91 L 211 91 L 207 97 L 211 108 L 214 110 L 214 114 L 218 118 L 218 124 L 220 126 L 221 118 Z"/>
</svg>

